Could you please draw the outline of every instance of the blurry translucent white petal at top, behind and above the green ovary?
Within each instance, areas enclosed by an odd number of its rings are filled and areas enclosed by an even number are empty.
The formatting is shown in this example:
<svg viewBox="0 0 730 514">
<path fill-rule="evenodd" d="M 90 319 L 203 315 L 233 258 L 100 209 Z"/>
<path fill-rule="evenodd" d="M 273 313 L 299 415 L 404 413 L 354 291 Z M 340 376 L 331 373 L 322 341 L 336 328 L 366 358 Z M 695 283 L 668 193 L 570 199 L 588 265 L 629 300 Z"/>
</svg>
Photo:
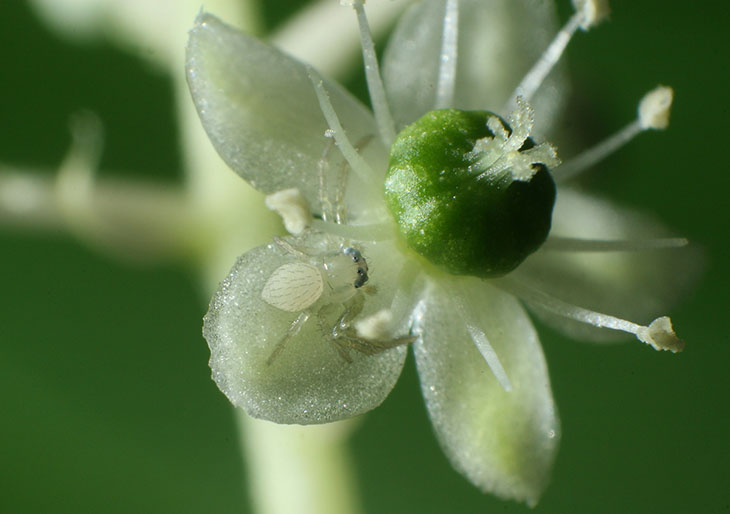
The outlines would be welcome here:
<svg viewBox="0 0 730 514">
<path fill-rule="evenodd" d="M 445 4 L 426 0 L 411 7 L 386 49 L 383 75 L 401 125 L 433 109 Z M 461 0 L 453 107 L 499 112 L 555 34 L 554 18 L 548 1 Z M 562 106 L 560 77 L 553 73 L 531 102 L 538 135 Z"/>
</svg>

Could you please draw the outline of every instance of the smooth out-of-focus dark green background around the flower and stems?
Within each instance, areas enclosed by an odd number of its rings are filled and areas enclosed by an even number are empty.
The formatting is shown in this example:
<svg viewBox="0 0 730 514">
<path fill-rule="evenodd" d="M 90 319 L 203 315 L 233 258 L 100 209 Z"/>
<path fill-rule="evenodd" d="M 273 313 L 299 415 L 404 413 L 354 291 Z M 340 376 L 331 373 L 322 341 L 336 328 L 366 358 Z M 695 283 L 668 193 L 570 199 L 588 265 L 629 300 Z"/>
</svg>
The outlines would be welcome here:
<svg viewBox="0 0 730 514">
<path fill-rule="evenodd" d="M 266 3 L 269 26 L 289 4 Z M 105 43 L 59 39 L 25 2 L 3 7 L 0 162 L 50 173 L 68 148 L 69 115 L 87 108 L 105 125 L 103 170 L 179 180 L 166 77 Z M 615 2 L 611 22 L 568 49 L 566 125 L 585 144 L 628 121 L 657 83 L 675 88 L 669 130 L 586 182 L 656 213 L 704 249 L 706 269 L 670 313 L 687 341 L 680 355 L 594 347 L 538 324 L 563 439 L 535 512 L 730 512 L 727 10 Z M 134 267 L 62 233 L 5 229 L 0 266 L 0 512 L 250 512 L 193 270 Z M 368 513 L 529 511 L 451 469 L 412 359 L 352 451 Z"/>
</svg>

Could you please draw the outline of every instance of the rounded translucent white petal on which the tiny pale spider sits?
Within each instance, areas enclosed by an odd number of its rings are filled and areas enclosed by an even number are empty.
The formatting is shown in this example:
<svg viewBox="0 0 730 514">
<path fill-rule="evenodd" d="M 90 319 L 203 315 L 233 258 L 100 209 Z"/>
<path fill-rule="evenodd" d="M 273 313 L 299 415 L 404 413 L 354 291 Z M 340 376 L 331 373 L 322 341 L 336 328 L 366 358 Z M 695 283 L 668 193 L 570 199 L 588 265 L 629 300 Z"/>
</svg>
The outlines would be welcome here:
<svg viewBox="0 0 730 514">
<path fill-rule="evenodd" d="M 239 258 L 213 297 L 203 328 L 213 379 L 232 403 L 251 416 L 276 423 L 327 423 L 378 406 L 395 384 L 405 347 L 373 356 L 346 348 L 352 361 L 347 362 L 327 337 L 344 310 L 327 293 L 341 285 L 332 282 L 336 278 L 325 277 L 326 290 L 311 306 L 309 320 L 267 363 L 301 314 L 264 300 L 262 291 L 272 274 L 296 263 L 321 266 L 341 256 L 348 244 L 305 232 L 284 243 L 255 248 Z M 399 254 L 392 244 L 363 246 L 362 254 L 370 263 L 371 290 L 368 294 L 363 287 L 355 293 L 364 299 L 355 321 L 389 308 L 398 284 Z"/>
</svg>

